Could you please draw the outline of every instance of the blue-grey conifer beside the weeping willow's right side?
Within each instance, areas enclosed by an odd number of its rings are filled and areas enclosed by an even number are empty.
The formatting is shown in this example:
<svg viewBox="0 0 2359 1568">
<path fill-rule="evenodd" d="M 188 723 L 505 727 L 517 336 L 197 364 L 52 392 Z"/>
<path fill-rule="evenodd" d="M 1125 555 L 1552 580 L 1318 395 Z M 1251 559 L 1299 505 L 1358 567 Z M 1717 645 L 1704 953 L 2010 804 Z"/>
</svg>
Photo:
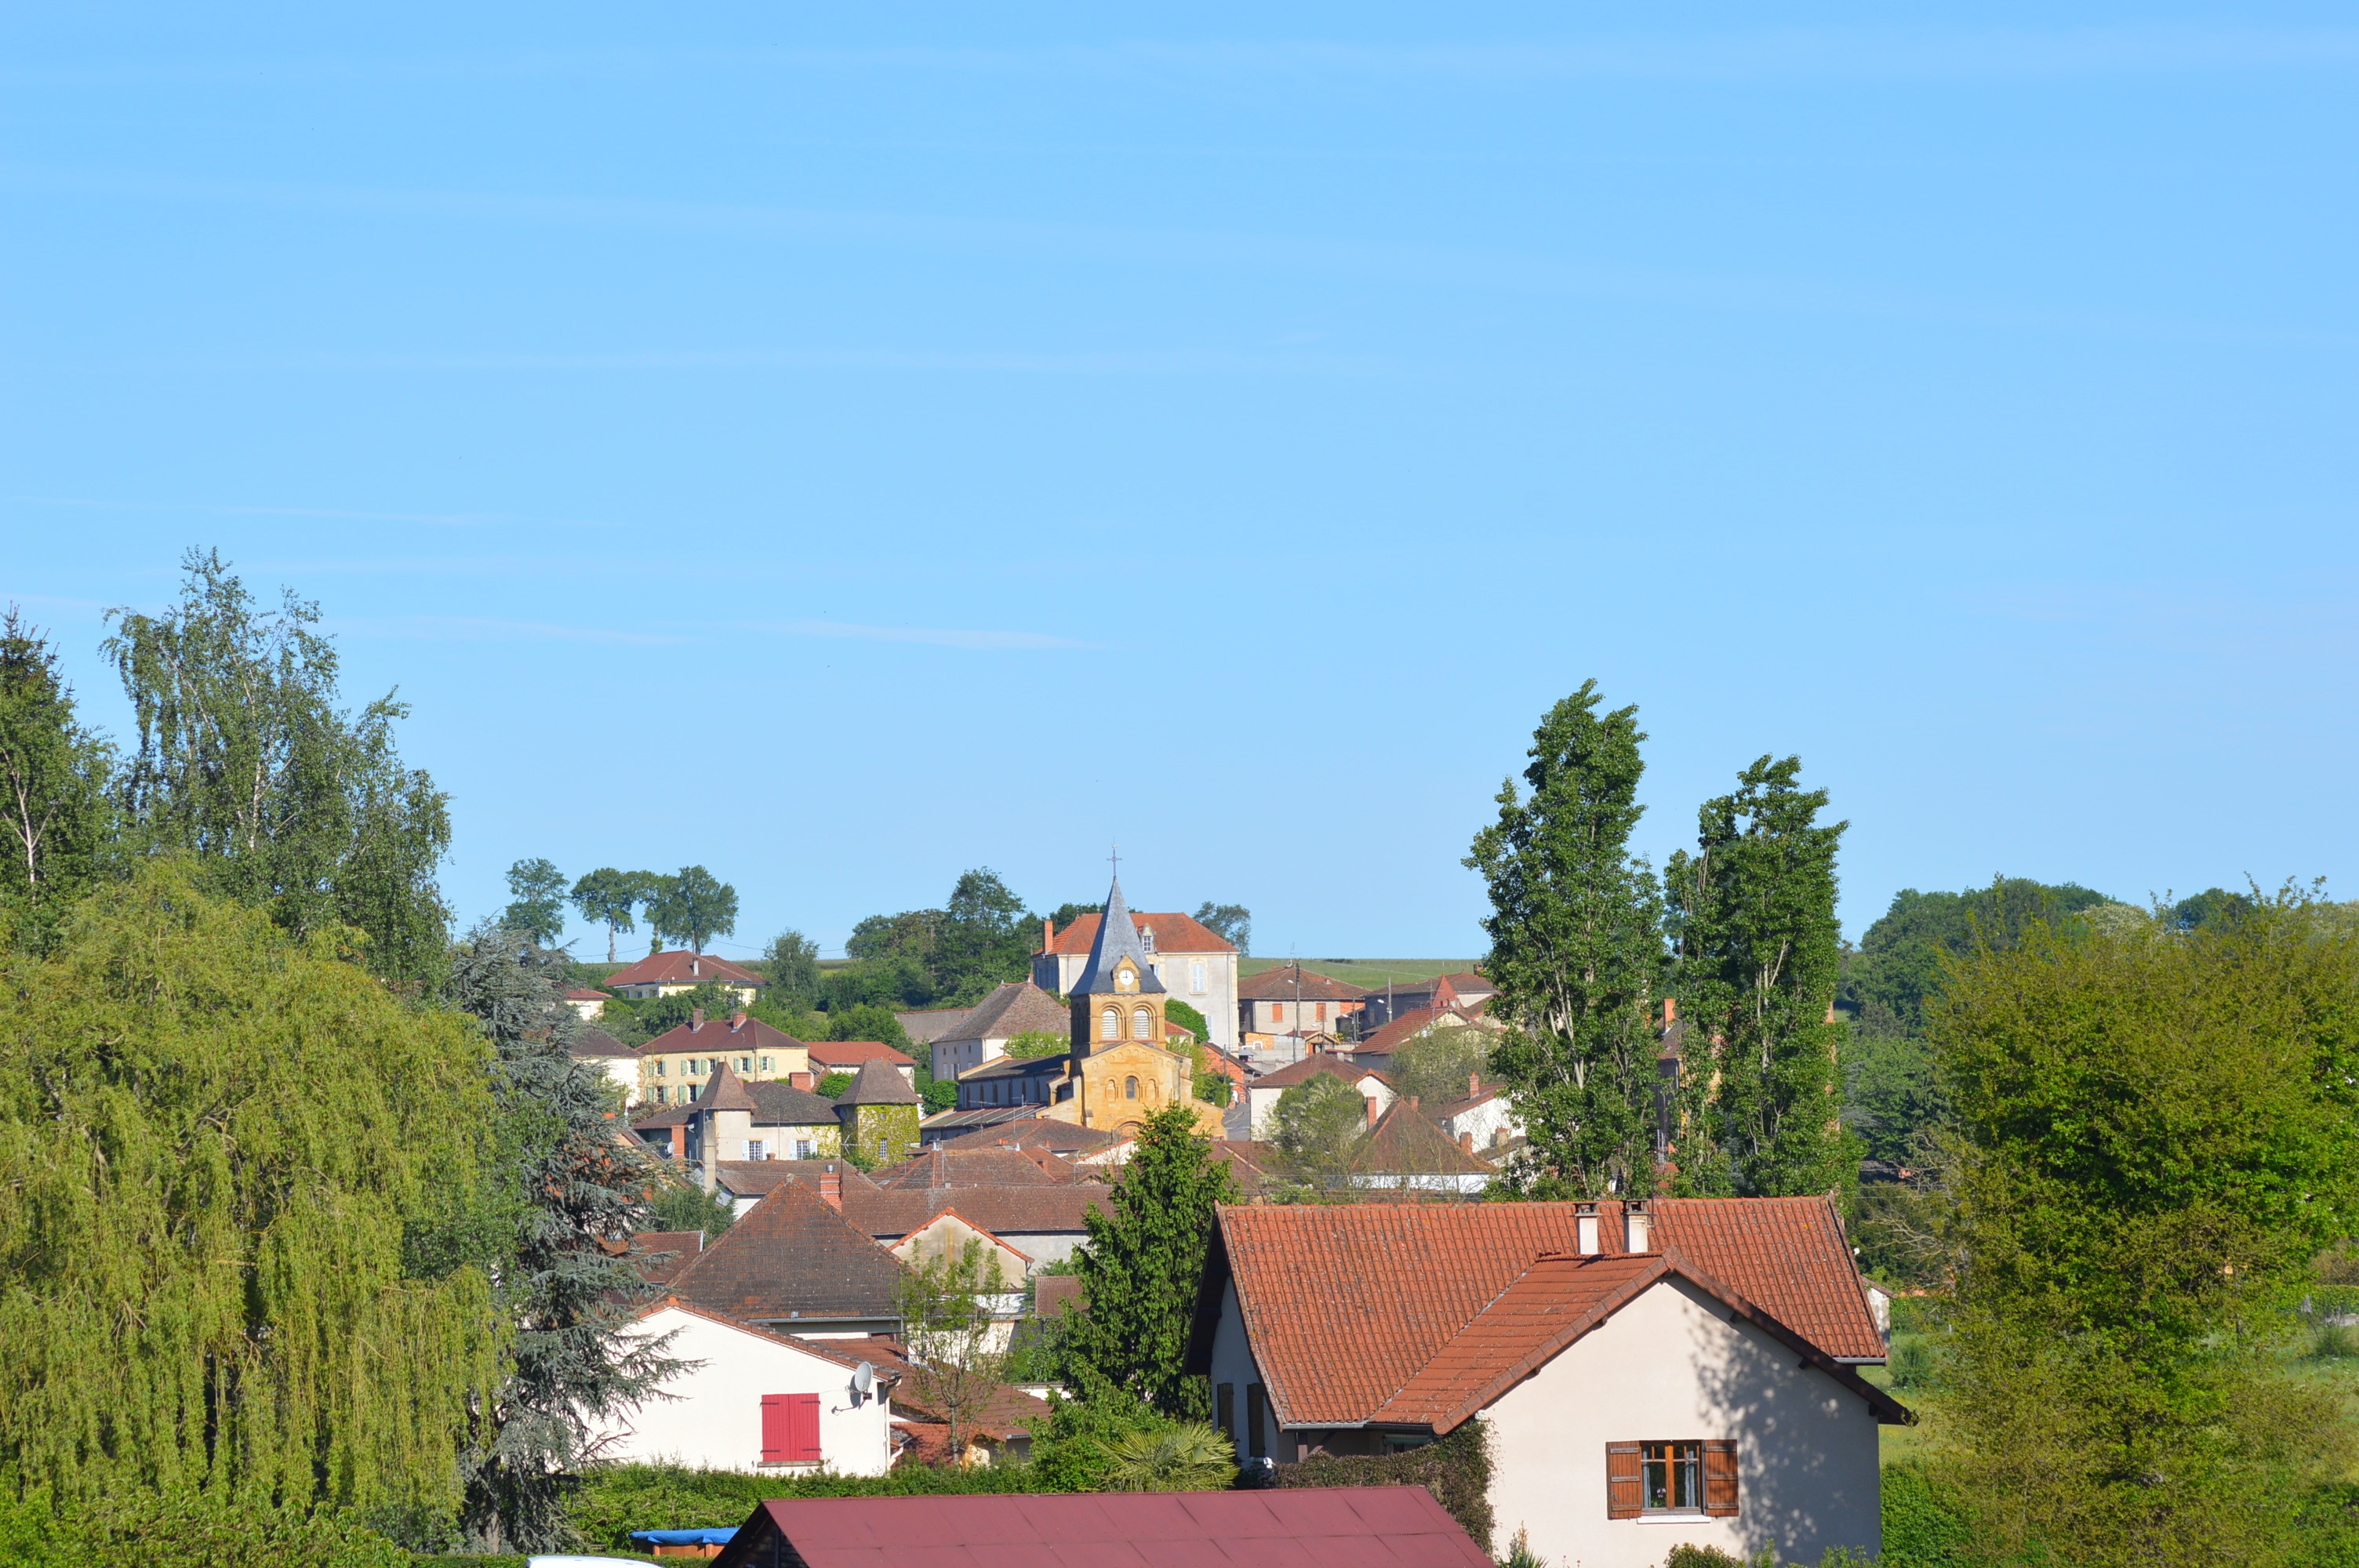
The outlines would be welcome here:
<svg viewBox="0 0 2359 1568">
<path fill-rule="evenodd" d="M 498 924 L 451 962 L 451 1002 L 491 1037 L 493 1207 L 512 1217 L 495 1278 L 517 1325 L 514 1370 L 479 1403 L 465 1462 L 462 1530 L 477 1551 L 566 1544 L 566 1474 L 597 1457 L 592 1429 L 677 1368 L 663 1342 L 623 1335 L 649 1294 L 625 1252 L 653 1228 L 658 1172 L 613 1120 L 604 1075 L 566 1054 L 580 1019 L 564 981 L 564 953 Z"/>
</svg>

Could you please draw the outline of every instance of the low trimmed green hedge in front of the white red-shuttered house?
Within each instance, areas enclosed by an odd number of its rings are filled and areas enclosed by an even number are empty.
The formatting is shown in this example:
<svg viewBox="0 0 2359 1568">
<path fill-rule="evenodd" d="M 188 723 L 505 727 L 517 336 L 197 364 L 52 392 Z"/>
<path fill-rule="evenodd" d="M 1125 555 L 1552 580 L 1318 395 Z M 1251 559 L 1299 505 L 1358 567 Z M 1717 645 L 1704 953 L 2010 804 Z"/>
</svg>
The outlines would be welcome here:
<svg viewBox="0 0 2359 1568">
<path fill-rule="evenodd" d="M 1033 1464 L 951 1469 L 896 1464 L 882 1476 L 762 1476 L 679 1464 L 599 1464 L 580 1476 L 569 1518 L 602 1551 L 627 1551 L 632 1530 L 710 1530 L 745 1523 L 769 1497 L 927 1497 L 1062 1490 Z"/>
</svg>

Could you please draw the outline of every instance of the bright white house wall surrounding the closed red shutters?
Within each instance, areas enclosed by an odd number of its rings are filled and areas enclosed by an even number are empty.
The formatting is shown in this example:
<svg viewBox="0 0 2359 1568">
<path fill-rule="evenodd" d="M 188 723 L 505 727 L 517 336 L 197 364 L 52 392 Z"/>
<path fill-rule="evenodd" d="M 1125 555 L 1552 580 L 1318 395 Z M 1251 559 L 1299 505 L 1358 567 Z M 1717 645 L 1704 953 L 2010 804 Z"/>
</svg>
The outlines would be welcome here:
<svg viewBox="0 0 2359 1568">
<path fill-rule="evenodd" d="M 840 1476 L 892 1469 L 892 1405 L 878 1396 L 854 1398 L 852 1368 L 675 1306 L 649 1313 L 635 1327 L 639 1335 L 670 1330 L 679 1337 L 668 1353 L 689 1368 L 665 1379 L 670 1398 L 651 1398 L 604 1429 L 616 1438 L 609 1457 L 767 1476 L 809 1474 L 819 1467 L 762 1464 L 762 1396 L 816 1394 L 826 1467 Z"/>
</svg>

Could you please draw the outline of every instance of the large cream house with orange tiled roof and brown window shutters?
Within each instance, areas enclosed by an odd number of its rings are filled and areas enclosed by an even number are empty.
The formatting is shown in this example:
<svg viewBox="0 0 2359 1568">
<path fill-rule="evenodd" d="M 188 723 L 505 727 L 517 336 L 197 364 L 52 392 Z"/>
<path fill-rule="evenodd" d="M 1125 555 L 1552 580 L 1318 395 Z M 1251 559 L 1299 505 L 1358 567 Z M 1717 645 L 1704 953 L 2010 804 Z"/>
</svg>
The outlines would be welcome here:
<svg viewBox="0 0 2359 1568">
<path fill-rule="evenodd" d="M 1885 1342 L 1826 1198 L 1231 1205 L 1189 1339 L 1241 1462 L 1491 1429 L 1489 1549 L 1878 1551 Z"/>
</svg>

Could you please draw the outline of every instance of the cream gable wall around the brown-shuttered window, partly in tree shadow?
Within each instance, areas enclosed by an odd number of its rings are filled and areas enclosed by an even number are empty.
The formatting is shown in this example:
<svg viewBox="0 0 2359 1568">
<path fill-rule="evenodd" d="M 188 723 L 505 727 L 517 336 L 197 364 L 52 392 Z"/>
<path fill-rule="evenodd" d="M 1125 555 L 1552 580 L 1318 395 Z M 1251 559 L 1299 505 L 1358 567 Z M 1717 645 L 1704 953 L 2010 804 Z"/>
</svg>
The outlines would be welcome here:
<svg viewBox="0 0 2359 1568">
<path fill-rule="evenodd" d="M 1496 1556 L 1522 1526 L 1545 1563 L 1651 1568 L 1680 1542 L 1816 1563 L 1882 1549 L 1866 1401 L 1682 1280 L 1663 1280 L 1498 1398 Z M 1606 1443 L 1736 1438 L 1734 1518 L 1606 1518 Z"/>
</svg>

